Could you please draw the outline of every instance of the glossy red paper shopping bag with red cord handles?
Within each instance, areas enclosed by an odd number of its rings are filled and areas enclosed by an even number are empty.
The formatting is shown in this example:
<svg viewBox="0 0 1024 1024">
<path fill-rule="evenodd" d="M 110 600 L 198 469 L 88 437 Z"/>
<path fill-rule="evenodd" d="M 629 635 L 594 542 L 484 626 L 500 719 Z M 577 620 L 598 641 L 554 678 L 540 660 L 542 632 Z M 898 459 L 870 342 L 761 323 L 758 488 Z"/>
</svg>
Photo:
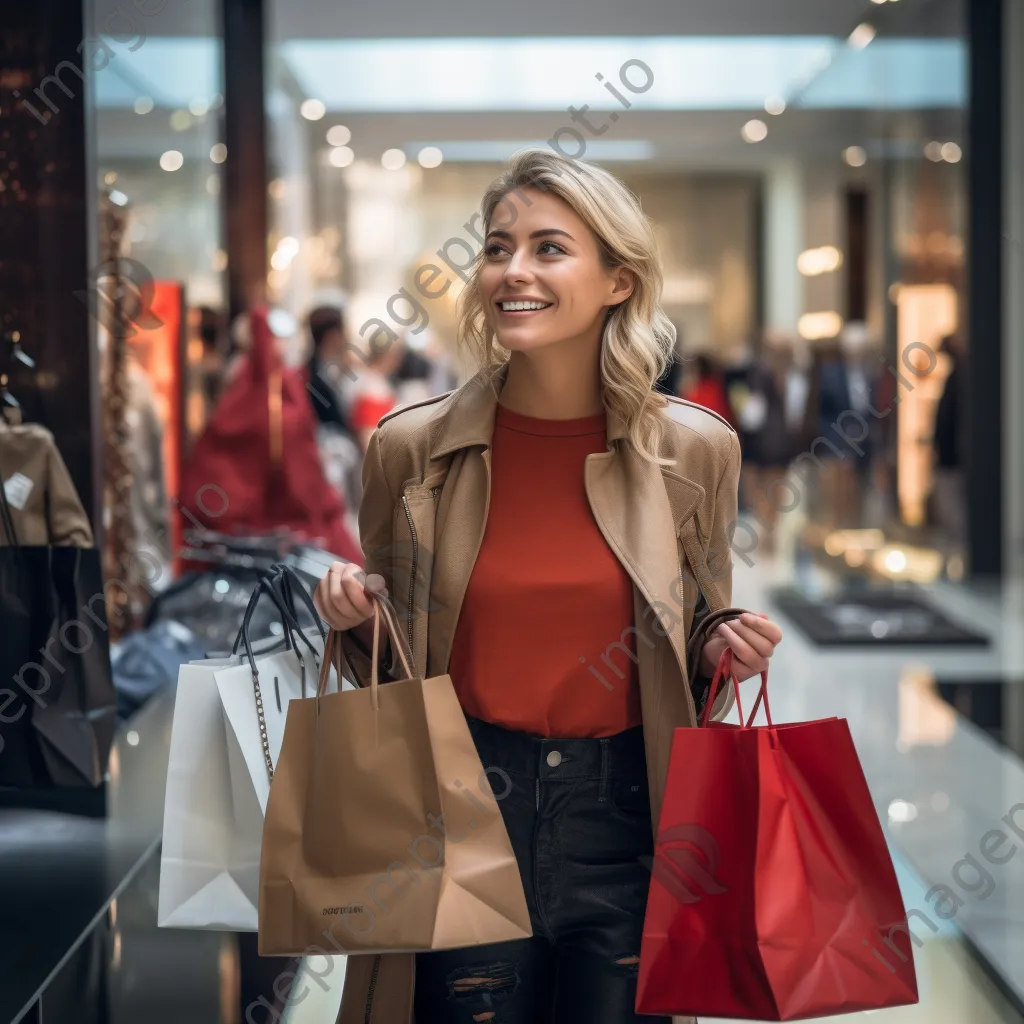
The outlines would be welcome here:
<svg viewBox="0 0 1024 1024">
<path fill-rule="evenodd" d="M 718 687 L 739 684 L 726 650 Z M 787 1021 L 918 1001 L 906 911 L 844 719 L 676 729 L 640 1014 Z M 753 727 L 764 700 L 767 726 Z"/>
</svg>

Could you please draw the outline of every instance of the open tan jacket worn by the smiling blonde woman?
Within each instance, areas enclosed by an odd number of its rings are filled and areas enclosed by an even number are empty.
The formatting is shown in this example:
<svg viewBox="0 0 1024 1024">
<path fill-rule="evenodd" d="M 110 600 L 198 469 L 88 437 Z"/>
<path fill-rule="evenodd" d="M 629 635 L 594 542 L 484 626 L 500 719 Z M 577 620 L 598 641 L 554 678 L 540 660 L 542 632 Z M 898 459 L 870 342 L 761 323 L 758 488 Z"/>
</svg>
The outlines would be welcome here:
<svg viewBox="0 0 1024 1024">
<path fill-rule="evenodd" d="M 506 373 L 481 371 L 457 391 L 388 415 L 367 453 L 359 510 L 366 569 L 384 577 L 421 676 L 449 669 L 487 519 L 490 438 Z M 609 413 L 607 451 L 588 456 L 585 470 L 597 524 L 633 580 L 652 822 L 673 730 L 696 724 L 689 680 L 699 647 L 732 597 L 739 474 L 739 443 L 724 420 L 671 398 L 665 417 L 660 454 L 674 466 L 638 456 L 625 424 Z M 701 594 L 710 614 L 694 629 Z M 343 634 L 342 645 L 349 671 L 368 680 L 369 657 L 355 635 Z M 723 695 L 715 717 L 730 702 L 731 694 Z M 411 1024 L 414 969 L 407 953 L 350 956 L 339 1024 Z"/>
</svg>

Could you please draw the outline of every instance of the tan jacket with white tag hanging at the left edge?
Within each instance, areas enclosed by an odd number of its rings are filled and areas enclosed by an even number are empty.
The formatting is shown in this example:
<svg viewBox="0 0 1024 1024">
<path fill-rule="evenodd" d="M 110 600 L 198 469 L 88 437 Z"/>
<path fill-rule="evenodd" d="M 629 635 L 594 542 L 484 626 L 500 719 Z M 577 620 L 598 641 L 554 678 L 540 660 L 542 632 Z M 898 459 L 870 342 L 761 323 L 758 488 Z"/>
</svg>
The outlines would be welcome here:
<svg viewBox="0 0 1024 1024">
<path fill-rule="evenodd" d="M 53 435 L 35 423 L 0 426 L 0 477 L 18 543 L 91 548 L 92 527 Z M 11 539 L 0 528 L 0 545 Z"/>
</svg>

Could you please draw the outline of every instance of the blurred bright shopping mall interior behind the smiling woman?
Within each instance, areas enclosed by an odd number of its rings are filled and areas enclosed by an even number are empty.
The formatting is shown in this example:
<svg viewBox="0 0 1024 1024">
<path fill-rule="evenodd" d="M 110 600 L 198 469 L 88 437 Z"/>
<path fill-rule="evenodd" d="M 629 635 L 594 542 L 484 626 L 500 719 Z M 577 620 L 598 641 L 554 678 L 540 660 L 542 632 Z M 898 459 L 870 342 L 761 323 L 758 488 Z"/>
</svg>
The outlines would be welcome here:
<svg viewBox="0 0 1024 1024">
<path fill-rule="evenodd" d="M 345 957 L 258 955 L 250 721 L 182 696 L 323 639 L 525 148 L 639 198 L 772 713 L 848 722 L 919 988 L 848 1016 L 1024 1020 L 1021 0 L 41 0 L 0 46 L 0 1024 L 335 1021 Z M 236 840 L 263 794 L 255 862 L 181 868 L 181 757 Z"/>
</svg>

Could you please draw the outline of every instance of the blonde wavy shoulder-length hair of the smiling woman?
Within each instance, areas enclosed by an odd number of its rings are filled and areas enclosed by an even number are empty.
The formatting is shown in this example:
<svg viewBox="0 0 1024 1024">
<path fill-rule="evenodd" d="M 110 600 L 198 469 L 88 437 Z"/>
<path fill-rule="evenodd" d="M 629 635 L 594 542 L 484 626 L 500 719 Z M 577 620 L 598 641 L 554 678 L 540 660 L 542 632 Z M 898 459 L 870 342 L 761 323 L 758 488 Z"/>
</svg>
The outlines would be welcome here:
<svg viewBox="0 0 1024 1024">
<path fill-rule="evenodd" d="M 601 339 L 602 400 L 626 423 L 630 442 L 658 464 L 662 410 L 668 404 L 653 390 L 672 358 L 676 329 L 660 306 L 662 263 L 650 221 L 640 201 L 614 175 L 592 164 L 567 160 L 547 150 L 516 154 L 483 194 L 484 232 L 499 204 L 513 191 L 539 188 L 566 203 L 594 232 L 601 262 L 629 270 L 634 279 L 628 299 L 608 310 Z M 460 297 L 459 338 L 481 368 L 498 368 L 510 352 L 498 344 L 487 325 L 479 291 L 483 248 L 476 255 Z"/>
</svg>

